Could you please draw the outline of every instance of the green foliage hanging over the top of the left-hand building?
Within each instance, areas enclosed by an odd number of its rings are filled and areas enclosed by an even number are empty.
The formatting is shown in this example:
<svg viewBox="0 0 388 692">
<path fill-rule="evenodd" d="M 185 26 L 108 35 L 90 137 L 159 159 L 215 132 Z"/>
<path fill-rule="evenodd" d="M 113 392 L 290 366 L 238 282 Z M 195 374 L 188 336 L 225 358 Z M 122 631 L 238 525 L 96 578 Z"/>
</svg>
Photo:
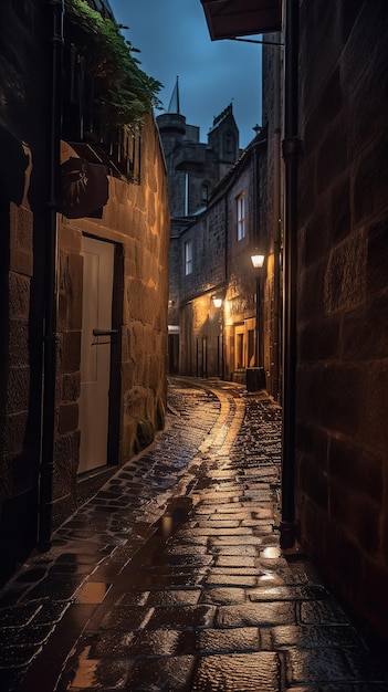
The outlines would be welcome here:
<svg viewBox="0 0 388 692">
<path fill-rule="evenodd" d="M 85 0 L 65 0 L 65 41 L 74 43 L 97 84 L 106 125 L 138 128 L 160 107 L 160 82 L 140 70 L 137 49 L 120 33 L 125 27 L 103 19 Z"/>
</svg>

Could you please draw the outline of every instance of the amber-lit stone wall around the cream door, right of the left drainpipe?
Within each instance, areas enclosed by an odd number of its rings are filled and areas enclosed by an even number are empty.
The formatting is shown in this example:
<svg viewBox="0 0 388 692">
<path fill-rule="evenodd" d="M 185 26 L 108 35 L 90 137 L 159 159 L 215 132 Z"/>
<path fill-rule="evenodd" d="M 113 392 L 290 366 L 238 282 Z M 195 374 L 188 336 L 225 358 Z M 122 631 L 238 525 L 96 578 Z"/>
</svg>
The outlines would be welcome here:
<svg viewBox="0 0 388 692">
<path fill-rule="evenodd" d="M 69 502 L 76 502 L 78 454 L 77 400 L 80 396 L 82 329 L 82 234 L 107 240 L 116 247 L 114 292 L 115 325 L 119 344 L 114 358 L 118 380 L 112 397 L 118 398 L 115 452 L 111 463 L 123 464 L 144 442 L 139 424 L 149 433 L 164 427 L 167 397 L 167 306 L 169 211 L 167 177 L 158 130 L 149 116 L 143 130 L 143 177 L 139 185 L 109 177 L 109 199 L 102 219 L 62 217 L 60 360 L 59 360 L 59 469 L 54 496 L 59 517 Z M 74 156 L 63 143 L 62 159 Z M 112 431 L 111 431 L 112 434 Z M 141 434 L 141 433 L 140 433 Z M 151 441 L 151 437 L 149 441 Z M 62 463 L 63 453 L 67 463 Z"/>
</svg>

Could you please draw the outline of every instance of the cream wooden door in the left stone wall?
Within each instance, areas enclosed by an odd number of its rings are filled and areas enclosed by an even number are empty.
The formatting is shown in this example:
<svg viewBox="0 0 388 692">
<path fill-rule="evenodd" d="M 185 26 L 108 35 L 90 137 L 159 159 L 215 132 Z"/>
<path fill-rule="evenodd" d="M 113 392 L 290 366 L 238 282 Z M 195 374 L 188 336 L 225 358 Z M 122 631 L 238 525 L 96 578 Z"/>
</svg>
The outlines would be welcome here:
<svg viewBox="0 0 388 692">
<path fill-rule="evenodd" d="M 114 245 L 83 237 L 78 473 L 107 463 Z"/>
</svg>

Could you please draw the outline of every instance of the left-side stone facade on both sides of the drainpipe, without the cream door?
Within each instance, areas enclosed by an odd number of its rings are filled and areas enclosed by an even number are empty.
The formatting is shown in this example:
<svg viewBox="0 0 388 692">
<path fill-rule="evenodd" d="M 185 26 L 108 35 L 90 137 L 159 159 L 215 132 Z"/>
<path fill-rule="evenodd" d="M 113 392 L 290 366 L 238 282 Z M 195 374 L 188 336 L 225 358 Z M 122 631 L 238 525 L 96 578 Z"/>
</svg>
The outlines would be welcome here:
<svg viewBox="0 0 388 692">
<path fill-rule="evenodd" d="M 10 576 L 39 541 L 39 495 L 43 483 L 42 356 L 52 219 L 48 209 L 51 35 L 45 17 L 51 11 L 40 0 L 18 7 L 6 1 L 2 7 L 1 580 Z M 60 151 L 60 140 L 55 146 Z M 62 162 L 69 156 L 80 156 L 77 147 L 72 146 L 62 141 Z M 138 171 L 136 180 L 128 182 L 112 167 L 108 200 L 99 214 L 72 219 L 60 213 L 55 219 L 54 214 L 59 262 L 54 277 L 57 324 L 53 458 L 49 460 L 52 527 L 95 492 L 117 465 L 149 443 L 164 426 L 169 210 L 164 155 L 151 115 L 141 132 Z M 117 337 L 111 358 L 106 464 L 81 483 L 77 472 L 84 235 L 115 249 L 112 321 Z"/>
</svg>

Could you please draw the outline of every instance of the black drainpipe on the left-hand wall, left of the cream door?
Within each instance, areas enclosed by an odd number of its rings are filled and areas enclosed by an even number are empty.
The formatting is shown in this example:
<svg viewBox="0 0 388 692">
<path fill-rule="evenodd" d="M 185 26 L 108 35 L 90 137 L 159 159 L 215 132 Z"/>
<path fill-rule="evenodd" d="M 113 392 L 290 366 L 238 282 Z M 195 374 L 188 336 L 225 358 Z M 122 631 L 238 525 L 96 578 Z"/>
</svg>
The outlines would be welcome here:
<svg viewBox="0 0 388 692">
<path fill-rule="evenodd" d="M 40 459 L 40 521 L 38 547 L 51 546 L 52 486 L 54 469 L 56 314 L 57 314 L 57 219 L 60 209 L 61 102 L 64 0 L 49 0 L 51 10 L 51 103 L 48 162 L 48 229 L 44 280 L 43 401 Z"/>
</svg>

